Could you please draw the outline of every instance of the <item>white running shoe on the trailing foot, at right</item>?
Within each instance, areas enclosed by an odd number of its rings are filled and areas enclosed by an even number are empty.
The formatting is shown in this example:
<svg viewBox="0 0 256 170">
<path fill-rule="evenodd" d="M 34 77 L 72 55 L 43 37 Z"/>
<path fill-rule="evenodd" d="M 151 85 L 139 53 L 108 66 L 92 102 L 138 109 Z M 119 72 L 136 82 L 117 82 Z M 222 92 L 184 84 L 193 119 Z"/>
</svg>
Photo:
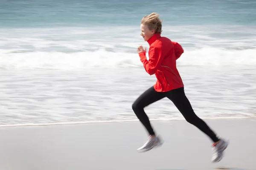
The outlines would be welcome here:
<svg viewBox="0 0 256 170">
<path fill-rule="evenodd" d="M 224 150 L 227 148 L 228 142 L 224 141 L 223 139 L 220 139 L 220 142 L 218 144 L 212 145 L 212 162 L 216 163 L 218 161 L 221 161 L 221 159 L 224 156 Z"/>
</svg>

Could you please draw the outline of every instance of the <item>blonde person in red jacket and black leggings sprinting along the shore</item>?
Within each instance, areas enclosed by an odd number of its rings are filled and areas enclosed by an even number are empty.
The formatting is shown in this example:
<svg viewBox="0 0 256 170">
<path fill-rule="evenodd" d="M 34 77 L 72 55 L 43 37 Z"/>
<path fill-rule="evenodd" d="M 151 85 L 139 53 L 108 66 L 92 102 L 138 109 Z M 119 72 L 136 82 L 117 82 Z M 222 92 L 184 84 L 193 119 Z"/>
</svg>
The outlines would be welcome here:
<svg viewBox="0 0 256 170">
<path fill-rule="evenodd" d="M 183 48 L 177 42 L 172 42 L 166 37 L 161 37 L 162 21 L 159 14 L 149 14 L 141 20 L 141 36 L 149 44 L 148 56 L 146 58 L 146 48 L 140 46 L 137 52 L 143 63 L 145 71 L 149 75 L 155 75 L 157 82 L 141 96 L 136 99 L 132 109 L 137 118 L 148 131 L 148 139 L 139 152 L 151 150 L 162 145 L 159 136 L 156 136 L 144 108 L 160 99 L 167 97 L 170 99 L 187 122 L 197 127 L 212 140 L 212 162 L 218 162 L 223 157 L 223 152 L 228 146 L 228 142 L 220 139 L 210 129 L 210 127 L 200 119 L 192 109 L 192 106 L 184 92 L 183 81 L 176 68 L 176 60 L 183 53 Z"/>
</svg>

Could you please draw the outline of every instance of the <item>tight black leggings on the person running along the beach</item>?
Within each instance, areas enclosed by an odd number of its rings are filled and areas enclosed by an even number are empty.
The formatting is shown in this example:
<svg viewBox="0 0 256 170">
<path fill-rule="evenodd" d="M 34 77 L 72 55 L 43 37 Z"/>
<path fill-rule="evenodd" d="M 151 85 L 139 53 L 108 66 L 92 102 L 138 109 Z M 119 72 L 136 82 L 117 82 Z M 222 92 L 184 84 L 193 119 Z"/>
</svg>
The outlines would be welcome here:
<svg viewBox="0 0 256 170">
<path fill-rule="evenodd" d="M 168 92 L 157 92 L 154 90 L 154 87 L 151 87 L 134 102 L 132 109 L 150 135 L 154 135 L 154 130 L 151 127 L 144 108 L 164 97 L 167 97 L 174 103 L 187 122 L 198 127 L 198 129 L 208 135 L 213 142 L 219 141 L 216 134 L 193 111 L 192 106 L 185 95 L 184 88 L 178 88 Z"/>
</svg>

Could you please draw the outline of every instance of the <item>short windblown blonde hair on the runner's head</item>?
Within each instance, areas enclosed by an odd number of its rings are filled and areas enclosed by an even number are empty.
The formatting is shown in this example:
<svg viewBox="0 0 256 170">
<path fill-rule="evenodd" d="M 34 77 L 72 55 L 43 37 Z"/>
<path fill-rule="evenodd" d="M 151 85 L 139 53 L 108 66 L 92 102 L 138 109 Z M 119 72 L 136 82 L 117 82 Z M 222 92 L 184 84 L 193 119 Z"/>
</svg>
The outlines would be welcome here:
<svg viewBox="0 0 256 170">
<path fill-rule="evenodd" d="M 159 14 L 153 12 L 149 15 L 146 15 L 142 18 L 140 24 L 148 26 L 150 31 L 155 30 L 155 33 L 162 33 L 162 22 L 163 20 L 159 19 Z"/>
</svg>

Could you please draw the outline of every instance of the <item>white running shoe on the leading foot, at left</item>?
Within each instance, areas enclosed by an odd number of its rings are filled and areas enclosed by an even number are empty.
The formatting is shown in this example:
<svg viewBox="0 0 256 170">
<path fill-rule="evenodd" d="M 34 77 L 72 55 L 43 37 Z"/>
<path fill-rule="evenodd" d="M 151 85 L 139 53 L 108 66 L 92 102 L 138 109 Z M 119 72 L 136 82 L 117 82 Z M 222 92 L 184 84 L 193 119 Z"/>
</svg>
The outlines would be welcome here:
<svg viewBox="0 0 256 170">
<path fill-rule="evenodd" d="M 163 142 L 160 140 L 159 136 L 148 136 L 148 139 L 145 141 L 142 147 L 138 148 L 138 152 L 145 152 L 151 150 L 153 147 L 161 146 Z"/>
</svg>

